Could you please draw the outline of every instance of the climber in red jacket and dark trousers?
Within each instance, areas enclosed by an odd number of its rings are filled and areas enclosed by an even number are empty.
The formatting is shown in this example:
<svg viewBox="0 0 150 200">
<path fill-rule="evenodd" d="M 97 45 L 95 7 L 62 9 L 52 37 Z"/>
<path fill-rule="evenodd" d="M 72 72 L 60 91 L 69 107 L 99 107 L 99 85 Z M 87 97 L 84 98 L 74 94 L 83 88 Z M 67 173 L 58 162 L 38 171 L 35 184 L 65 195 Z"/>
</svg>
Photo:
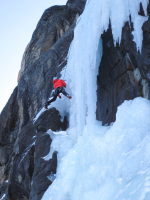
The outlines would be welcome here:
<svg viewBox="0 0 150 200">
<path fill-rule="evenodd" d="M 60 93 L 65 95 L 67 98 L 71 99 L 72 97 L 65 91 L 66 83 L 62 79 L 57 79 L 56 77 L 53 78 L 53 87 L 54 90 L 52 91 L 50 99 L 45 103 L 45 108 L 47 109 L 48 105 L 55 101 L 57 97 L 61 98 Z"/>
</svg>

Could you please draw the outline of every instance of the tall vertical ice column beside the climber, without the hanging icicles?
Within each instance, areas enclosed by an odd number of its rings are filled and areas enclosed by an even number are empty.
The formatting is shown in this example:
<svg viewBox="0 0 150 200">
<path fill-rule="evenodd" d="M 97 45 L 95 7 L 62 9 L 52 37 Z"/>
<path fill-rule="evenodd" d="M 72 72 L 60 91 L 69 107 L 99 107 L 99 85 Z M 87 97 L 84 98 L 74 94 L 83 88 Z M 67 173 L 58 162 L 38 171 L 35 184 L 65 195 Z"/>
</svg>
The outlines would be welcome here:
<svg viewBox="0 0 150 200">
<path fill-rule="evenodd" d="M 96 120 L 96 82 L 102 52 L 101 7 L 96 7 L 96 2 L 87 2 L 69 51 L 67 70 L 73 93 L 70 126 L 76 127 L 77 134 Z"/>
</svg>

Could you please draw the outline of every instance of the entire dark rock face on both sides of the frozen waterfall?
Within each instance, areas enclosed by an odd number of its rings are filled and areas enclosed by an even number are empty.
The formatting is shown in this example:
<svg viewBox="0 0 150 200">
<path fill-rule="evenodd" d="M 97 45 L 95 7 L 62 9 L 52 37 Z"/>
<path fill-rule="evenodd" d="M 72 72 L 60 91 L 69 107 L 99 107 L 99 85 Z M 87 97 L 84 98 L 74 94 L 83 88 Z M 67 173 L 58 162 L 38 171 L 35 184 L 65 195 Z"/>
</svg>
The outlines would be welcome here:
<svg viewBox="0 0 150 200">
<path fill-rule="evenodd" d="M 68 119 L 51 108 L 33 123 L 60 77 L 73 39 L 78 16 L 86 0 L 68 0 L 66 6 L 47 9 L 23 56 L 18 86 L 0 115 L 0 198 L 40 200 L 57 171 L 57 152 L 48 161 L 51 137 L 66 130 Z M 149 8 L 148 8 L 149 13 Z M 142 8 L 140 14 L 143 15 Z M 131 28 L 123 28 L 121 45 L 114 47 L 111 28 L 103 34 L 103 57 L 97 81 L 97 119 L 115 120 L 117 106 L 136 96 L 150 98 L 150 19 L 143 25 L 141 54 L 132 41 Z"/>
</svg>

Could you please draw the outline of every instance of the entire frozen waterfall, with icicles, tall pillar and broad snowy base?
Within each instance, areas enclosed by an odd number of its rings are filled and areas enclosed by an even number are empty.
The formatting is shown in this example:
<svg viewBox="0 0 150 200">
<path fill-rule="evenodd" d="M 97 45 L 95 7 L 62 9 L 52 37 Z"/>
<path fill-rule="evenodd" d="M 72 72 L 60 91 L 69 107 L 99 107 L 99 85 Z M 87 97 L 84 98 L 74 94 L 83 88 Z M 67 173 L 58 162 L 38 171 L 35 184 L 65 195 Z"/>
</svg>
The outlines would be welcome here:
<svg viewBox="0 0 150 200">
<path fill-rule="evenodd" d="M 101 34 L 110 19 L 114 43 L 120 42 L 131 15 L 140 50 L 141 26 L 147 19 L 138 15 L 140 2 L 146 14 L 147 0 L 87 1 L 68 54 L 66 79 L 73 94 L 69 129 L 62 134 L 47 132 L 53 141 L 44 159 L 57 151 L 58 166 L 42 200 L 150 199 L 150 101 L 125 101 L 110 126 L 102 126 L 95 114 Z"/>
</svg>

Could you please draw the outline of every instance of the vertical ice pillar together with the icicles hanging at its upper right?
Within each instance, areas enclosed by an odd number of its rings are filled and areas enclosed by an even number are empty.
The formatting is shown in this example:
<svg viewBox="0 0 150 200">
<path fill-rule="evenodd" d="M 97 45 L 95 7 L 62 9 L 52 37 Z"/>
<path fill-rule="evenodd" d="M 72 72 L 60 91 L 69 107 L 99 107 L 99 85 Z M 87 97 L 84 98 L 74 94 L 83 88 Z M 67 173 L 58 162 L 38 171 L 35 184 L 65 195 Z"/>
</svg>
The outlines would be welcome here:
<svg viewBox="0 0 150 200">
<path fill-rule="evenodd" d="M 84 12 L 77 21 L 67 66 L 73 93 L 70 127 L 76 127 L 77 134 L 81 134 L 85 125 L 94 123 L 96 118 L 96 75 L 102 51 L 99 43 L 101 34 L 111 22 L 114 44 L 120 42 L 122 28 L 131 16 L 136 36 L 134 40 L 141 49 L 141 26 L 147 17 L 140 16 L 140 23 L 137 20 L 140 2 L 146 10 L 147 0 L 87 0 Z M 116 8 L 119 9 L 116 11 Z"/>
</svg>

